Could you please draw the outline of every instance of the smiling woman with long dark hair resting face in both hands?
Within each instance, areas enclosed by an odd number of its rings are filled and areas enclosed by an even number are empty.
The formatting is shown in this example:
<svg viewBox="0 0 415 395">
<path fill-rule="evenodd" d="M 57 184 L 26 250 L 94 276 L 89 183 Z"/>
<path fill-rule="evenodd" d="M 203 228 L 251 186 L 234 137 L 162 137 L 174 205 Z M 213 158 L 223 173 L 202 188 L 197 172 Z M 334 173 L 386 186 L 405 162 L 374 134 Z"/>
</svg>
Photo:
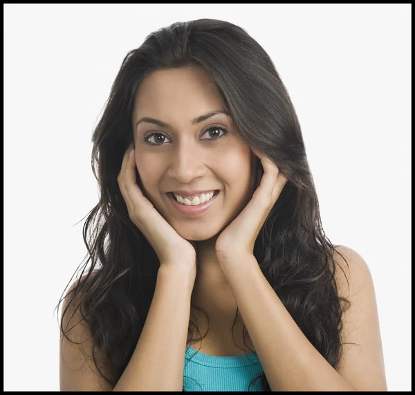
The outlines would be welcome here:
<svg viewBox="0 0 415 395">
<path fill-rule="evenodd" d="M 62 390 L 387 389 L 369 269 L 325 236 L 295 109 L 245 30 L 199 19 L 131 50 L 93 160 Z"/>
</svg>

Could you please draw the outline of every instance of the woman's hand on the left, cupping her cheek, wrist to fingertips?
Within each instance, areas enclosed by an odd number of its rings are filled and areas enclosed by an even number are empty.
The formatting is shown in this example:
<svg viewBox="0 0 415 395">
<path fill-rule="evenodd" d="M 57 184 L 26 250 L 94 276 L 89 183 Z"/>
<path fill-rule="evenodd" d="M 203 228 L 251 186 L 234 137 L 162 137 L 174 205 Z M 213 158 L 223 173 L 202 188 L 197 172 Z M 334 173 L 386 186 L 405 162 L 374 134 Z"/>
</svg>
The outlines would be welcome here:
<svg viewBox="0 0 415 395">
<path fill-rule="evenodd" d="M 151 201 L 142 194 L 136 182 L 135 152 L 132 147 L 125 151 L 117 177 L 131 221 L 154 248 L 160 265 L 185 265 L 196 268 L 196 242 L 187 241 L 179 236 L 154 208 Z"/>
</svg>

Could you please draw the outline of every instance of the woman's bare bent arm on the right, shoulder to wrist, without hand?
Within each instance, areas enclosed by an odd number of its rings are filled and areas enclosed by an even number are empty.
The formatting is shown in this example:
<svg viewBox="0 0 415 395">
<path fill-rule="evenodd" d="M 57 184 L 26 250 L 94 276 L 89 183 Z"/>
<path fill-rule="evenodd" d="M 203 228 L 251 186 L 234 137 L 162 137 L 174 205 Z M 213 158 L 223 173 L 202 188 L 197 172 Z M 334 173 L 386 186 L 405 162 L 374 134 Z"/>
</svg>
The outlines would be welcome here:
<svg viewBox="0 0 415 395">
<path fill-rule="evenodd" d="M 352 341 L 361 347 L 345 349 L 336 371 L 299 329 L 255 257 L 222 264 L 272 391 L 387 390 L 373 282 L 356 253 L 349 266 L 352 307 L 343 317 L 344 332 L 353 333 Z"/>
</svg>

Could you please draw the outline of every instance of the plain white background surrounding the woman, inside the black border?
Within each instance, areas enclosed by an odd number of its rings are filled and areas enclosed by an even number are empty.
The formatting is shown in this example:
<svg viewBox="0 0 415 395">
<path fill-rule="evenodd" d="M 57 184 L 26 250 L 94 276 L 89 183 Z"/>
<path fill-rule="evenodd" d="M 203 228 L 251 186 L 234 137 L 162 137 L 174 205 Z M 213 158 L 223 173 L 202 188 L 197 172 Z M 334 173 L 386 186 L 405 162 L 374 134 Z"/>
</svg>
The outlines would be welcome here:
<svg viewBox="0 0 415 395">
<path fill-rule="evenodd" d="M 411 390 L 411 13 L 409 4 L 6 4 L 4 390 L 59 390 L 54 309 L 86 254 L 82 219 L 98 203 L 91 136 L 122 59 L 152 31 L 205 17 L 245 28 L 273 59 L 326 235 L 371 270 L 388 389 Z"/>
</svg>

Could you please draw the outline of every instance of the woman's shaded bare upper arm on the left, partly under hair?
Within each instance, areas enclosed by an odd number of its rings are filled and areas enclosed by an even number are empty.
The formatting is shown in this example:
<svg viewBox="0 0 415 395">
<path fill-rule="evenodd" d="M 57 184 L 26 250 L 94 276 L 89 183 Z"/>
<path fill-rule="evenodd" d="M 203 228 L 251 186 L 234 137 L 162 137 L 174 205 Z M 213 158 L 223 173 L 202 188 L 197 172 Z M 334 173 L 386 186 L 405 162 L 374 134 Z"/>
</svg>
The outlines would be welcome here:
<svg viewBox="0 0 415 395">
<path fill-rule="evenodd" d="M 84 276 L 85 277 L 85 276 Z M 82 277 L 82 279 L 84 279 Z M 104 379 L 93 363 L 93 342 L 80 309 L 81 295 L 73 297 L 76 282 L 66 293 L 62 304 L 62 330 L 59 341 L 59 385 L 61 391 L 108 391 Z M 95 347 L 95 358 L 104 356 Z M 101 366 L 100 366 L 101 368 Z"/>
</svg>

